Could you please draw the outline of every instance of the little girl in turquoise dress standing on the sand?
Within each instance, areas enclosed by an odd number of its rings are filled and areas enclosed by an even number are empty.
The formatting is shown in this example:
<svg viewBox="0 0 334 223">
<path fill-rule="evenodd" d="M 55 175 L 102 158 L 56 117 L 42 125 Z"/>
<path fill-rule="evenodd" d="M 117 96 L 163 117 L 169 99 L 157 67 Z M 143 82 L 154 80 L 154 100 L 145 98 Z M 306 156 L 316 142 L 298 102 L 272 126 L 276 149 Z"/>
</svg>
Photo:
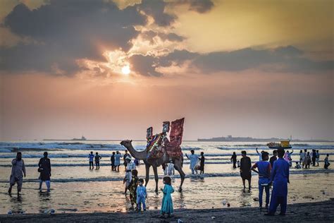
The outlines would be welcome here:
<svg viewBox="0 0 334 223">
<path fill-rule="evenodd" d="M 163 184 L 165 184 L 165 186 L 163 187 L 163 189 L 161 189 L 161 191 L 163 192 L 163 198 L 161 203 L 162 218 L 165 217 L 165 214 L 167 214 L 168 217 L 171 217 L 171 214 L 173 213 L 173 201 L 171 193 L 174 192 L 174 189 L 171 186 L 171 177 L 163 177 Z"/>
</svg>

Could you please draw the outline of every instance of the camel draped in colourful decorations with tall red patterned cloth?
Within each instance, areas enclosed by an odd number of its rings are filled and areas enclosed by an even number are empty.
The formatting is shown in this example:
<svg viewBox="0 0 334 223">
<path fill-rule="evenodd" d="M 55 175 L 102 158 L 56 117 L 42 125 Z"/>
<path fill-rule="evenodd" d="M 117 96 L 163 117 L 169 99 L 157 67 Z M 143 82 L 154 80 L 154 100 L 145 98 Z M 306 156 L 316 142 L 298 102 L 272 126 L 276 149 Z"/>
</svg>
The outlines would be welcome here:
<svg viewBox="0 0 334 223">
<path fill-rule="evenodd" d="M 181 183 L 179 191 L 182 191 L 185 173 L 182 169 L 183 154 L 180 144 L 182 143 L 183 135 L 183 119 L 172 121 L 170 140 L 167 138 L 169 131 L 169 121 L 163 123 L 163 133 L 152 135 L 152 128 L 147 129 L 147 148 L 143 151 L 137 151 L 132 146 L 132 140 L 123 140 L 120 145 L 123 145 L 130 152 L 132 157 L 142 159 L 145 164 L 146 177 L 145 186 L 149 182 L 149 168 L 153 168 L 154 179 L 156 181 L 156 192 L 158 192 L 158 167 L 166 167 L 166 164 L 173 162 L 174 168 L 180 173 Z"/>
</svg>

